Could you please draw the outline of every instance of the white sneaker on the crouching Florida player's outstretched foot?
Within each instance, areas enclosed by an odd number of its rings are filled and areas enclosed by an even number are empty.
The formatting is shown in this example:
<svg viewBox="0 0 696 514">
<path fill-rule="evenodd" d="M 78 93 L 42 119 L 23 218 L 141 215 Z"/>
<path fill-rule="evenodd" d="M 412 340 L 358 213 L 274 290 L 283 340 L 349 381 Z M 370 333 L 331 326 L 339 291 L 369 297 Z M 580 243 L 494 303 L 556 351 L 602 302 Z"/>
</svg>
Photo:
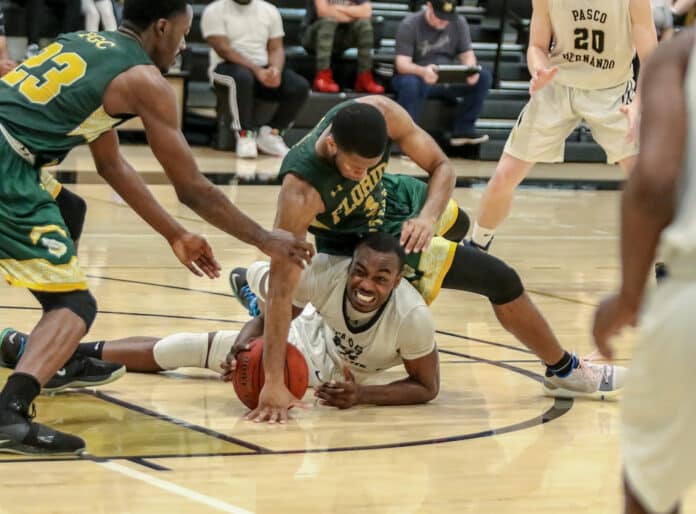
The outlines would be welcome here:
<svg viewBox="0 0 696 514">
<path fill-rule="evenodd" d="M 614 398 L 623 388 L 626 371 L 621 366 L 580 359 L 580 365 L 568 376 L 544 377 L 544 394 L 555 398 Z"/>
</svg>

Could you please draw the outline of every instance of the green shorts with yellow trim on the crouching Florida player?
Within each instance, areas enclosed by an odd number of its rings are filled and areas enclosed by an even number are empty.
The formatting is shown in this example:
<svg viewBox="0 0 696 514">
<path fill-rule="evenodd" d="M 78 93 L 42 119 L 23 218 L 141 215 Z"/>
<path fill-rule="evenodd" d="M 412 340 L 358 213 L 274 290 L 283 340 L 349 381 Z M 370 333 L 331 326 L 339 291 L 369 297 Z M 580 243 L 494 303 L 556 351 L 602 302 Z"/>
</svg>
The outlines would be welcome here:
<svg viewBox="0 0 696 514">
<path fill-rule="evenodd" d="M 409 175 L 389 173 L 384 174 L 382 181 L 387 191 L 382 230 L 399 237 L 404 221 L 418 216 L 423 208 L 428 196 L 428 184 Z M 457 242 L 441 236 L 454 225 L 458 214 L 457 202 L 450 199 L 434 227 L 435 237 L 428 249 L 422 253 L 409 254 L 406 258 L 404 278 L 418 289 L 428 304 L 439 294 L 442 281 L 452 266 Z M 340 231 L 331 231 L 326 235 L 315 233 L 315 237 L 317 251 L 331 255 L 352 255 L 359 241 L 358 235 Z"/>
</svg>

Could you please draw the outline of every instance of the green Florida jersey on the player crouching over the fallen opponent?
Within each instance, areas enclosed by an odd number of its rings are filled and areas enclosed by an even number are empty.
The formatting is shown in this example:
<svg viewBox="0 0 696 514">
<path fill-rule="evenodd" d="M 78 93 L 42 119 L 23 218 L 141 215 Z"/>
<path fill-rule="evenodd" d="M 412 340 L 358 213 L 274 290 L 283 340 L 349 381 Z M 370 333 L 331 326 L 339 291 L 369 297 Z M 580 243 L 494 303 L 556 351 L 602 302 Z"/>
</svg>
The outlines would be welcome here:
<svg viewBox="0 0 696 514">
<path fill-rule="evenodd" d="M 389 161 L 389 145 L 379 164 L 368 170 L 359 182 L 341 175 L 333 162 L 319 157 L 314 148 L 336 113 L 351 102 L 354 100 L 330 109 L 317 126 L 290 149 L 280 168 L 281 178 L 294 173 L 319 192 L 325 211 L 317 215 L 309 231 L 316 238 L 318 251 L 334 255 L 350 255 L 360 234 L 383 230 L 385 221 L 387 191 L 382 177 Z"/>
</svg>

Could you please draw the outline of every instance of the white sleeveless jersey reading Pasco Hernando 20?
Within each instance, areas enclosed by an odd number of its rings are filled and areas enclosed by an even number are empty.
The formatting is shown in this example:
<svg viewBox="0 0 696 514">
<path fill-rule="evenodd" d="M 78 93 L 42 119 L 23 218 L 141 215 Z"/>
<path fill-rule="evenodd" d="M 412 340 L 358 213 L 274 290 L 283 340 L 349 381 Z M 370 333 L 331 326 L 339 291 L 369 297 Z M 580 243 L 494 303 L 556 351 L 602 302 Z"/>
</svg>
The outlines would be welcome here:
<svg viewBox="0 0 696 514">
<path fill-rule="evenodd" d="M 578 89 L 606 89 L 633 78 L 630 0 L 548 0 L 555 80 Z"/>
</svg>

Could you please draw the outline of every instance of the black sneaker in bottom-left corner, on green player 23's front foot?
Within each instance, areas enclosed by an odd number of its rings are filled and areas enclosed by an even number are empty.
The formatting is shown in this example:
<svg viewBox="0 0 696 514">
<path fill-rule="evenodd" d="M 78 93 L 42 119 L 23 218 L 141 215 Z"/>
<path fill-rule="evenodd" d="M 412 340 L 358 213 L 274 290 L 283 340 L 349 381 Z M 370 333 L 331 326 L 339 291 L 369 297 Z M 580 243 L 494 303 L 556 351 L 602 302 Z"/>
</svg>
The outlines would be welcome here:
<svg viewBox="0 0 696 514">
<path fill-rule="evenodd" d="M 32 413 L 18 402 L 10 402 L 0 410 L 0 452 L 21 455 L 79 455 L 85 450 L 85 442 L 74 435 L 53 430 L 34 423 Z"/>
</svg>

